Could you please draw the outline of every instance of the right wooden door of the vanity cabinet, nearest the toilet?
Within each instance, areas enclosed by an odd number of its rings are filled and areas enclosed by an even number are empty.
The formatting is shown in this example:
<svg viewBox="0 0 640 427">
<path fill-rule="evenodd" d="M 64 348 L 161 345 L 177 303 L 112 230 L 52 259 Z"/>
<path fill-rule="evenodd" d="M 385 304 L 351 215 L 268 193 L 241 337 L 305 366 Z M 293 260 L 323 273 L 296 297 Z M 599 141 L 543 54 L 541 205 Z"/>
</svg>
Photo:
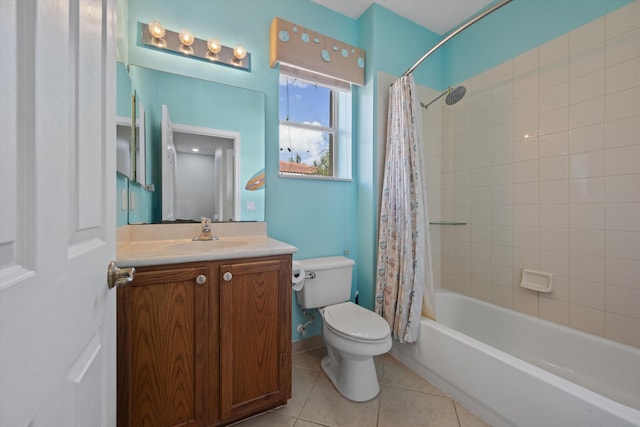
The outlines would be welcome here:
<svg viewBox="0 0 640 427">
<path fill-rule="evenodd" d="M 291 257 L 220 266 L 223 420 L 291 397 Z"/>
</svg>

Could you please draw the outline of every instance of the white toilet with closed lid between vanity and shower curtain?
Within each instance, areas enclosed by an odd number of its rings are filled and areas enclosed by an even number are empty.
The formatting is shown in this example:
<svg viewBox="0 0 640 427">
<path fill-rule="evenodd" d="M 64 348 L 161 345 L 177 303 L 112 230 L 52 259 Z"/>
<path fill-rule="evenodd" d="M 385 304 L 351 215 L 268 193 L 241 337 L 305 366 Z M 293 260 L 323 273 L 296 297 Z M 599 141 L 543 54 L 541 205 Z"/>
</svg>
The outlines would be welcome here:
<svg viewBox="0 0 640 427">
<path fill-rule="evenodd" d="M 365 402 L 380 392 L 373 356 L 391 349 L 391 330 L 381 316 L 350 301 L 354 264 L 343 256 L 294 261 L 293 289 L 300 307 L 317 308 L 324 321 L 322 370 L 344 397 Z"/>
</svg>

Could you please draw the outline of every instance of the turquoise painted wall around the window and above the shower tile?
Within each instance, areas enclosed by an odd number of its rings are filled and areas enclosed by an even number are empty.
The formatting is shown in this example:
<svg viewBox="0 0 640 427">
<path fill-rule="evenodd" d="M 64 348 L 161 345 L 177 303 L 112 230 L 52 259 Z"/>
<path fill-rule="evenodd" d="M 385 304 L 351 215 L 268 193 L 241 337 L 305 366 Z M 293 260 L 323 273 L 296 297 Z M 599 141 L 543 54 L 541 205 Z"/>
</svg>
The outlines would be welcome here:
<svg viewBox="0 0 640 427">
<path fill-rule="evenodd" d="M 415 72 L 437 90 L 472 77 L 630 0 L 514 0 L 449 42 Z M 249 12 L 250 11 L 250 12 Z M 269 66 L 269 27 L 279 16 L 367 52 L 366 84 L 354 89 L 354 180 L 329 182 L 278 175 L 278 69 Z M 212 66 L 137 45 L 137 22 L 188 27 L 225 45 L 242 43 L 251 72 Z M 401 75 L 441 37 L 374 4 L 353 20 L 309 0 L 129 0 L 129 61 L 145 67 L 245 87 L 266 95 L 266 221 L 269 235 L 298 247 L 294 258 L 341 255 L 356 261 L 360 302 L 372 307 L 377 233 L 377 73 Z M 295 299 L 294 299 L 295 301 Z M 304 322 L 293 307 L 293 338 Z M 320 322 L 309 336 L 320 333 Z"/>
</svg>

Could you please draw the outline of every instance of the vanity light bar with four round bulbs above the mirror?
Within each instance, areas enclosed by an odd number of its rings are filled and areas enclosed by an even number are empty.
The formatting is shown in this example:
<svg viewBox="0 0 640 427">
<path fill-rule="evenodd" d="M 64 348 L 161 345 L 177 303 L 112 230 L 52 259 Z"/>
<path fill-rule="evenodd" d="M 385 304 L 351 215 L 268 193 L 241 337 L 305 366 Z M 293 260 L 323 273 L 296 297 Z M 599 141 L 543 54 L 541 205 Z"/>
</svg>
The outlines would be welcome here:
<svg viewBox="0 0 640 427">
<path fill-rule="evenodd" d="M 139 23 L 139 26 L 142 46 L 251 71 L 251 54 L 241 44 L 231 48 L 216 38 L 199 39 L 189 30 L 176 33 L 164 28 L 158 21 Z"/>
</svg>

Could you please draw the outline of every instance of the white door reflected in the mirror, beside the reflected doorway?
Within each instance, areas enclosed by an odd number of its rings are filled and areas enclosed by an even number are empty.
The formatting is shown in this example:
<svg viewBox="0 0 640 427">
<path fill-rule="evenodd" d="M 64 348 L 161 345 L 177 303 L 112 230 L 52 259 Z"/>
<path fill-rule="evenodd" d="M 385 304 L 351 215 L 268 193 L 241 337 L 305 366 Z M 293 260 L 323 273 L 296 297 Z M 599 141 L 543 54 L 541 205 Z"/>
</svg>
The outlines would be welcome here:
<svg viewBox="0 0 640 427">
<path fill-rule="evenodd" d="M 176 168 L 178 153 L 173 143 L 169 108 L 162 106 L 162 219 L 176 219 Z"/>
</svg>

